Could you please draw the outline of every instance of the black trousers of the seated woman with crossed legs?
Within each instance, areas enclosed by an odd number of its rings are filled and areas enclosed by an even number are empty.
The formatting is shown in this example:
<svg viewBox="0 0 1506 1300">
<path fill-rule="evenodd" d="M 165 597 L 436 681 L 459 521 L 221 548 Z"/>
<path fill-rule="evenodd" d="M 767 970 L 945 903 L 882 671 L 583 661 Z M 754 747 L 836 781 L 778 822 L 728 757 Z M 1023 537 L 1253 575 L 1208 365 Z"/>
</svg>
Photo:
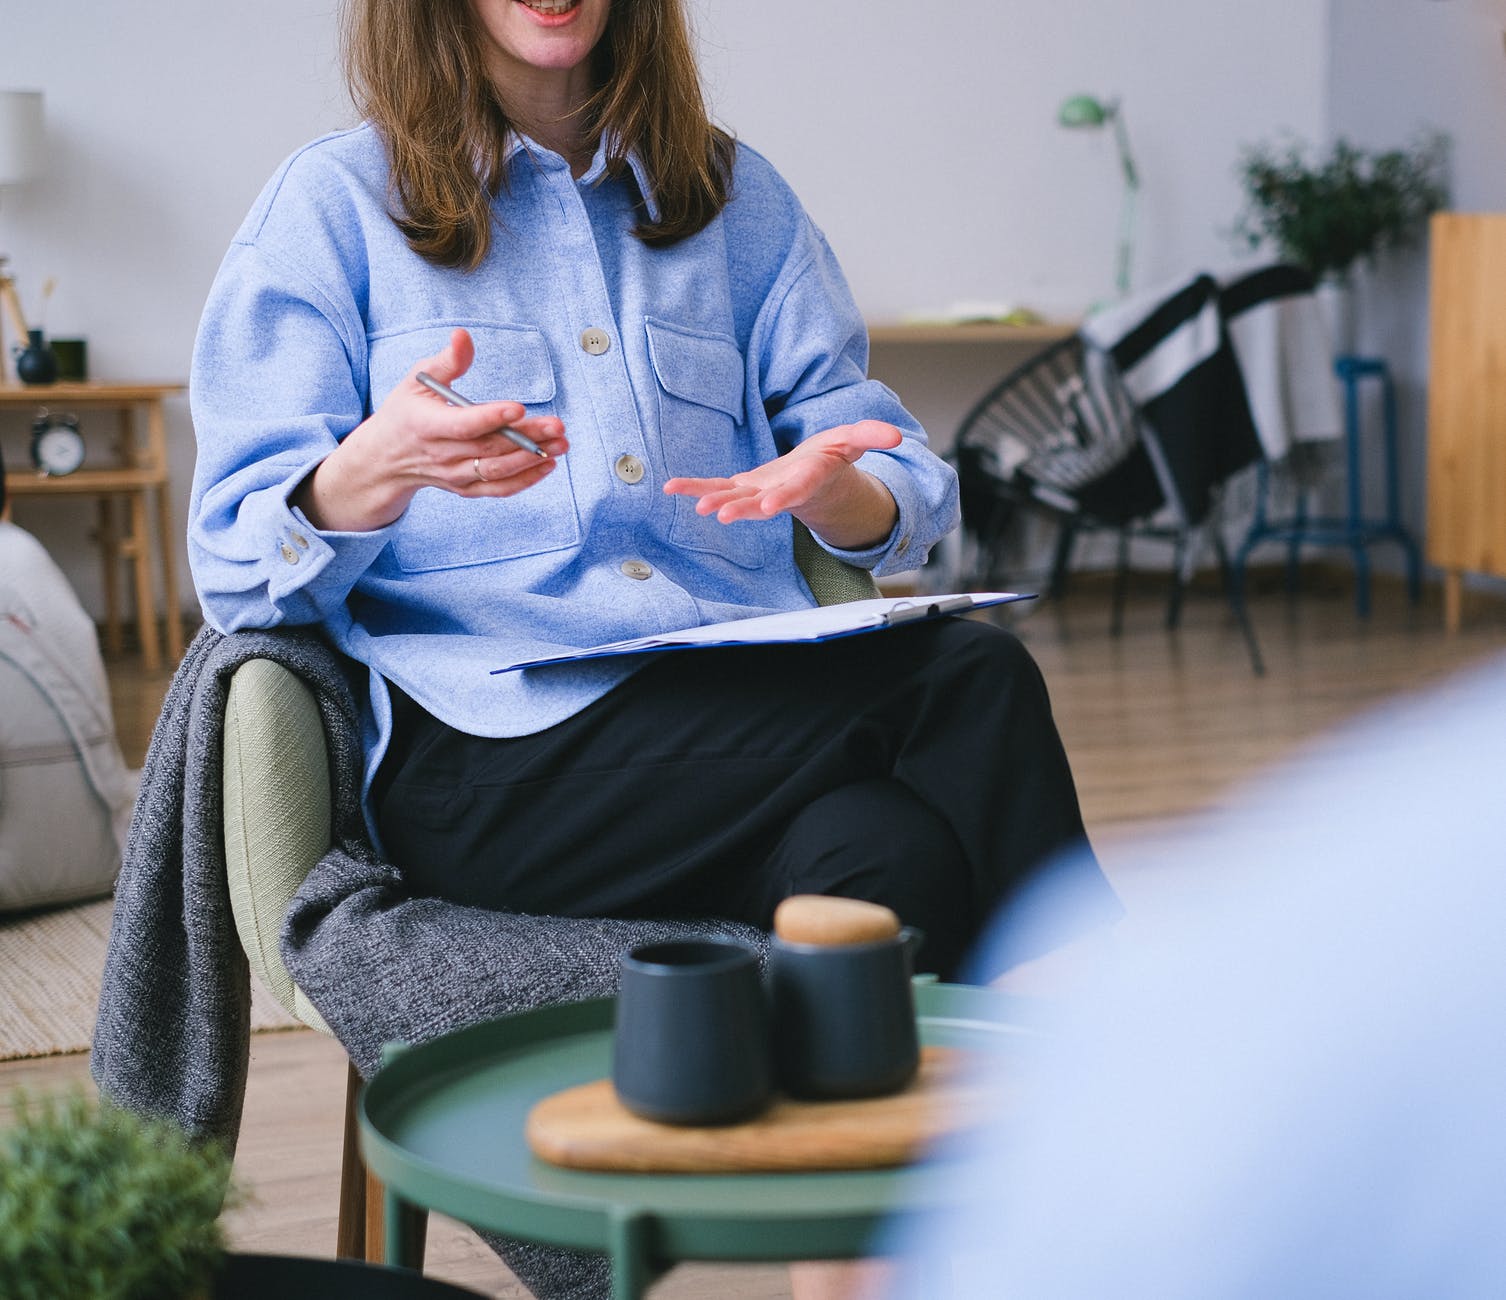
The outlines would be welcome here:
<svg viewBox="0 0 1506 1300">
<path fill-rule="evenodd" d="M 791 893 L 864 898 L 925 931 L 919 964 L 946 978 L 1066 848 L 1117 913 L 1041 672 L 988 624 L 666 652 L 515 740 L 396 702 L 376 815 L 419 895 L 764 928 Z"/>
</svg>

